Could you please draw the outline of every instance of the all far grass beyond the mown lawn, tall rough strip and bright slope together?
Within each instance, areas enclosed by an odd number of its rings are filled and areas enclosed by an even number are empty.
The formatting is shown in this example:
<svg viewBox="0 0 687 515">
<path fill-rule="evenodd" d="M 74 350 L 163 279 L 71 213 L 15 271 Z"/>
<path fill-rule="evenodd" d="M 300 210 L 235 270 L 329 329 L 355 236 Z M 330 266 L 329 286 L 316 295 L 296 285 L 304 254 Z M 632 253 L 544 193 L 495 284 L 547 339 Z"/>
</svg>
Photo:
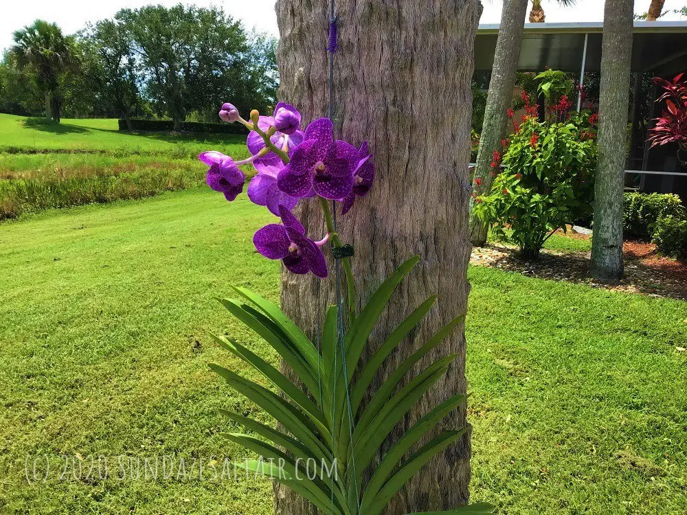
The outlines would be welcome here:
<svg viewBox="0 0 687 515">
<path fill-rule="evenodd" d="M 115 119 L 32 120 L 0 115 L 0 222 L 51 207 L 184 190 L 205 183 L 207 167 L 196 159 L 203 150 L 248 155 L 245 137 L 237 135 L 122 133 Z M 252 167 L 244 168 L 250 176 Z"/>
</svg>

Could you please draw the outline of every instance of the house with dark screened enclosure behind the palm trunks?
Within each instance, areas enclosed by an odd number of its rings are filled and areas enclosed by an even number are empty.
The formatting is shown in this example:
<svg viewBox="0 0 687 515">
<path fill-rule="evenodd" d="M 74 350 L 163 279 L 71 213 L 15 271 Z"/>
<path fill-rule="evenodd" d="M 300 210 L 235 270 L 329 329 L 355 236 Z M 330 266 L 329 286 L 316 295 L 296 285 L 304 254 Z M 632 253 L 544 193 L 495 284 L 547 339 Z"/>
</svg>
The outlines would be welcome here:
<svg viewBox="0 0 687 515">
<path fill-rule="evenodd" d="M 480 25 L 475 38 L 475 73 L 491 73 L 499 24 Z M 598 80 L 603 23 L 526 23 L 519 71 L 558 69 L 574 73 L 580 84 Z M 662 106 L 654 77 L 672 79 L 687 71 L 687 22 L 637 21 L 632 48 L 631 106 L 626 152 L 628 190 L 675 193 L 687 202 L 687 168 L 677 145 L 650 148 L 646 131 Z M 576 106 L 581 108 L 578 95 Z"/>
</svg>

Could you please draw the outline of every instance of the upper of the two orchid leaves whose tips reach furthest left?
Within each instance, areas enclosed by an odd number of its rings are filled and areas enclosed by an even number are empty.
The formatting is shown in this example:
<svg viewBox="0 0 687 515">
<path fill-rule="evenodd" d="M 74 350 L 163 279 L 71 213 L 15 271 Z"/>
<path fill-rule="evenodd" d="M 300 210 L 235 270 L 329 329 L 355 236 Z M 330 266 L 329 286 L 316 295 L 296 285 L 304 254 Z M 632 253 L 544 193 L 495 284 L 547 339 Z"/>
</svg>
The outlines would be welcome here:
<svg viewBox="0 0 687 515">
<path fill-rule="evenodd" d="M 301 389 L 294 385 L 293 382 L 289 381 L 284 374 L 275 369 L 275 367 L 272 365 L 269 365 L 267 361 L 264 361 L 264 359 L 260 358 L 260 356 L 254 352 L 251 352 L 251 350 L 247 349 L 240 343 L 225 339 L 223 336 L 216 336 L 215 334 L 212 334 L 212 337 L 215 339 L 215 341 L 222 345 L 222 347 L 234 354 L 234 356 L 238 356 L 243 361 L 254 367 L 260 372 L 260 374 L 269 379 L 272 384 L 275 385 L 275 387 L 278 387 L 281 391 L 283 391 L 286 396 L 296 404 L 297 407 L 302 409 L 302 411 L 308 416 L 308 418 L 310 418 L 313 424 L 315 424 L 323 434 L 329 433 L 329 429 L 326 426 L 322 411 L 315 405 L 313 401 L 310 400 L 310 398 L 308 398 L 308 396 L 306 396 L 305 393 L 303 393 Z"/>
</svg>

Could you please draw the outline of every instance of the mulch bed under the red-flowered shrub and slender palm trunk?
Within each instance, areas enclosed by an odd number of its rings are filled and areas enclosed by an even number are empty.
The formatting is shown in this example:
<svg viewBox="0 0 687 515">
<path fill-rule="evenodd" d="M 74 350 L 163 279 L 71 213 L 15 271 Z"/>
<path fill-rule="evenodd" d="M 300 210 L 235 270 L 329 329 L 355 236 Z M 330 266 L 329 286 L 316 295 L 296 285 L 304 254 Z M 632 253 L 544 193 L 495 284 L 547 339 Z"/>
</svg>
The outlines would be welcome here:
<svg viewBox="0 0 687 515">
<path fill-rule="evenodd" d="M 574 238 L 589 238 L 578 233 L 572 234 Z M 536 262 L 525 262 L 517 257 L 515 247 L 495 243 L 486 247 L 474 247 L 471 263 L 530 277 L 587 284 L 594 288 L 687 300 L 686 263 L 664 258 L 657 253 L 654 244 L 646 242 L 625 242 L 623 251 L 625 277 L 620 284 L 612 285 L 598 283 L 589 275 L 589 252 L 545 249 Z"/>
</svg>

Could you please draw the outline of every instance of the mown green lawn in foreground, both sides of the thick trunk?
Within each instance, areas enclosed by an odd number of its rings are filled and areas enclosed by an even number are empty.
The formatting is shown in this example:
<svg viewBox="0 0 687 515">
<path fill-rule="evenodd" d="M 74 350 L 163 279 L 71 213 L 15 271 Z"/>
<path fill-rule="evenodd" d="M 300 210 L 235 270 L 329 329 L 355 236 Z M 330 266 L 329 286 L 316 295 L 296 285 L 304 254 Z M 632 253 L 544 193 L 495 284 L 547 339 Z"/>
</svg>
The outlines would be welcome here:
<svg viewBox="0 0 687 515">
<path fill-rule="evenodd" d="M 216 409 L 260 413 L 207 369 L 241 367 L 207 332 L 275 362 L 212 299 L 229 284 L 278 299 L 278 264 L 251 244 L 269 220 L 245 195 L 188 190 L 0 225 L 0 513 L 271 513 L 254 478 L 25 479 L 27 454 L 245 457 Z M 687 304 L 469 277 L 473 499 L 512 515 L 687 512 Z"/>
</svg>

